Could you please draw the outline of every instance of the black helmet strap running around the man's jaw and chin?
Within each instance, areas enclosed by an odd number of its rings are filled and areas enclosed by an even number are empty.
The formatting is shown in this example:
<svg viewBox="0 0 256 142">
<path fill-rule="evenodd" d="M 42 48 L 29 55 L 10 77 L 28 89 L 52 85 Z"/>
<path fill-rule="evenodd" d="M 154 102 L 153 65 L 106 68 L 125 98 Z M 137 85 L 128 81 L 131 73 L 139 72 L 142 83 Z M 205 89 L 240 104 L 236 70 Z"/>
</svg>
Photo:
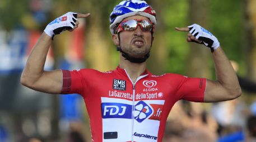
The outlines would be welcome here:
<svg viewBox="0 0 256 142">
<path fill-rule="evenodd" d="M 153 35 L 151 37 L 151 46 L 152 46 L 152 39 L 153 39 Z M 129 56 L 127 53 L 125 53 L 121 49 L 120 34 L 119 33 L 118 33 L 118 40 L 119 40 L 119 46 L 117 46 L 117 51 L 120 51 L 120 53 L 122 53 L 122 56 L 125 58 L 125 60 L 129 60 L 132 63 L 144 63 L 147 60 L 147 58 L 150 57 L 150 52 L 148 52 L 143 58 L 133 58 L 133 57 Z"/>
</svg>

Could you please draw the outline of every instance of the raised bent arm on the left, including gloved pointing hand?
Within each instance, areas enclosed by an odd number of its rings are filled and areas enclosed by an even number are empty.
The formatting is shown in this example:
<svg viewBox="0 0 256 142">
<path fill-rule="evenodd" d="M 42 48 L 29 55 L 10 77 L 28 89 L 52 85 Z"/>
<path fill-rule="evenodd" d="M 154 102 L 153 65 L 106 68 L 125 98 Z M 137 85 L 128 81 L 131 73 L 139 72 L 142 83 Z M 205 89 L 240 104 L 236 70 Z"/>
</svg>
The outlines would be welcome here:
<svg viewBox="0 0 256 142">
<path fill-rule="evenodd" d="M 21 84 L 36 91 L 58 94 L 62 90 L 62 70 L 46 72 L 44 64 L 54 35 L 64 30 L 75 30 L 79 22 L 77 18 L 85 18 L 90 14 L 68 12 L 50 22 L 34 46 L 21 75 Z"/>
</svg>

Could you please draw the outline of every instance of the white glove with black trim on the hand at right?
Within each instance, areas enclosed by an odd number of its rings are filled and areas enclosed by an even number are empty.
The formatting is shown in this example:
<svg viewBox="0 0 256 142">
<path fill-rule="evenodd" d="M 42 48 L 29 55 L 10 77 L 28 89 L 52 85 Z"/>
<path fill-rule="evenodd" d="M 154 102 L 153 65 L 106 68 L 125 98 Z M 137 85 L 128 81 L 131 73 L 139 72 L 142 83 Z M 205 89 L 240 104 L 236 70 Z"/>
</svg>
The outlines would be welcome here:
<svg viewBox="0 0 256 142">
<path fill-rule="evenodd" d="M 207 31 L 200 25 L 194 23 L 193 25 L 190 25 L 188 27 L 189 33 L 196 37 L 196 39 L 201 40 L 202 42 L 200 44 L 204 44 L 205 46 L 210 48 L 212 52 L 220 47 L 220 42 L 218 42 L 218 39 L 214 35 L 212 35 L 211 32 Z"/>
</svg>

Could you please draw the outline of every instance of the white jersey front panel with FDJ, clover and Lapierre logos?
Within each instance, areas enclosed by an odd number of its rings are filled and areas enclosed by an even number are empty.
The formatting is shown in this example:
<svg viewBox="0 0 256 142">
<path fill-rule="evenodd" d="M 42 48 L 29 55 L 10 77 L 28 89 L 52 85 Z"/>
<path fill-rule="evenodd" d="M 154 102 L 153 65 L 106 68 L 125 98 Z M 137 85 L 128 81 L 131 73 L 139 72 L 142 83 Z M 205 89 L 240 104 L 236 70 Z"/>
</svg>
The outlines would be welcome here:
<svg viewBox="0 0 256 142">
<path fill-rule="evenodd" d="M 140 142 L 157 141 L 164 102 L 164 100 L 135 101 L 132 110 L 133 101 L 101 97 L 103 140 L 131 141 L 133 138 L 134 141 Z"/>
</svg>

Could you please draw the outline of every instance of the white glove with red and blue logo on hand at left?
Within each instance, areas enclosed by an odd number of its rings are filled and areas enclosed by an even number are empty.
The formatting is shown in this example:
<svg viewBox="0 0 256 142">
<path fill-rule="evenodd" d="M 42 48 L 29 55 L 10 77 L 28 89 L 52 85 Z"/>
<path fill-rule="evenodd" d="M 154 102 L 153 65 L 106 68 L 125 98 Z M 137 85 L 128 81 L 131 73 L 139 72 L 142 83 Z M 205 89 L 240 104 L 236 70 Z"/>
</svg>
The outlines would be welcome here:
<svg viewBox="0 0 256 142">
<path fill-rule="evenodd" d="M 54 35 L 58 35 L 62 31 L 74 29 L 76 21 L 77 13 L 68 12 L 50 22 L 44 32 L 53 39 Z"/>
</svg>

